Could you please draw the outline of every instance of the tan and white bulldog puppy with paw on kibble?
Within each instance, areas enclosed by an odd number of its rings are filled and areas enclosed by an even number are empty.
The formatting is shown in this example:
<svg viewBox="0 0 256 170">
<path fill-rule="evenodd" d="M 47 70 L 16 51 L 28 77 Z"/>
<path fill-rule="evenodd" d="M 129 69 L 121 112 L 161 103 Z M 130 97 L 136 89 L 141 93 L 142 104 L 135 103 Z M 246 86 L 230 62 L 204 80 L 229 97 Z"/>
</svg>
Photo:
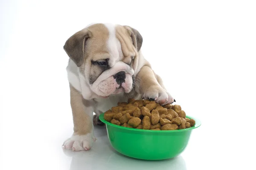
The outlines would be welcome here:
<svg viewBox="0 0 256 170">
<path fill-rule="evenodd" d="M 89 150 L 96 141 L 93 124 L 102 124 L 98 116 L 117 102 L 175 101 L 143 57 L 142 43 L 136 29 L 102 23 L 91 24 L 66 41 L 74 133 L 64 141 L 65 149 Z"/>
</svg>

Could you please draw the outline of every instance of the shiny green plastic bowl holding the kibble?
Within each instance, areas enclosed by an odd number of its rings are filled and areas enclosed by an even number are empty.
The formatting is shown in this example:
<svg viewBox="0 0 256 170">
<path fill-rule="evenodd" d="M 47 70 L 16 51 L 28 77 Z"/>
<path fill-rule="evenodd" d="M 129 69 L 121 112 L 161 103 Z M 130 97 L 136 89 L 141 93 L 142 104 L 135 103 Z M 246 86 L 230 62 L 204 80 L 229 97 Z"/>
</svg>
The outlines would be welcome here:
<svg viewBox="0 0 256 170">
<path fill-rule="evenodd" d="M 192 118 L 187 116 L 187 118 Z M 104 113 L 99 119 L 106 124 L 108 139 L 112 147 L 119 153 L 131 158 L 144 160 L 163 160 L 174 158 L 185 150 L 193 129 L 201 122 L 195 120 L 195 126 L 182 130 L 142 130 L 122 127 L 104 119 Z"/>
</svg>

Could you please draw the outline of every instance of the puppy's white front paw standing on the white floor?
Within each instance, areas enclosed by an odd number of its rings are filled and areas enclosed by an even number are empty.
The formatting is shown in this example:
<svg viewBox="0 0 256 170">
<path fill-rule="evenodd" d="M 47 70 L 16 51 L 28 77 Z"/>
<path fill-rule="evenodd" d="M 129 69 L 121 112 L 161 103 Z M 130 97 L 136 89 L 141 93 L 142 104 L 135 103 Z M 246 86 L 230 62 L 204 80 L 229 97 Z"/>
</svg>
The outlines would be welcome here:
<svg viewBox="0 0 256 170">
<path fill-rule="evenodd" d="M 95 141 L 96 138 L 93 133 L 87 133 L 86 135 L 73 135 L 64 141 L 62 147 L 64 149 L 72 149 L 73 151 L 90 150 Z"/>
</svg>

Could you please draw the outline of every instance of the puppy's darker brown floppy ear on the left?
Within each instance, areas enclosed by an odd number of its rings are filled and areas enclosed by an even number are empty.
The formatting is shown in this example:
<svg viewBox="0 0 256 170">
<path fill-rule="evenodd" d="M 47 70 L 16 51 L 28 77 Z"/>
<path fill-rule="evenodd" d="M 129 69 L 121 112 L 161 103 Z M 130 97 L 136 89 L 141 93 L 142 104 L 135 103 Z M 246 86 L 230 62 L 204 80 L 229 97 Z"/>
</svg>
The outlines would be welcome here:
<svg viewBox="0 0 256 170">
<path fill-rule="evenodd" d="M 81 30 L 72 35 L 65 43 L 64 50 L 77 66 L 81 66 L 84 61 L 84 50 L 86 41 L 91 37 L 91 33 L 87 30 Z"/>
</svg>

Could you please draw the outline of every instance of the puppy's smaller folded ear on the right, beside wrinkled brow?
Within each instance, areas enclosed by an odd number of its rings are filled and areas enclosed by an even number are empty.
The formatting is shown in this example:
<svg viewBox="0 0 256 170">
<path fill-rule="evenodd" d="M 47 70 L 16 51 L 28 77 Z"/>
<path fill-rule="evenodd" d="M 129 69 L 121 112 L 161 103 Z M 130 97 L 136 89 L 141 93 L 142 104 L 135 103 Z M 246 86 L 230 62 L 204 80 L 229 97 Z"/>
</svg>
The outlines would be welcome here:
<svg viewBox="0 0 256 170">
<path fill-rule="evenodd" d="M 143 38 L 140 35 L 140 32 L 138 32 L 137 29 L 131 28 L 130 26 L 125 26 L 125 28 L 128 30 L 128 33 L 131 35 L 132 43 L 137 49 L 137 51 L 139 52 L 143 42 Z"/>
</svg>

